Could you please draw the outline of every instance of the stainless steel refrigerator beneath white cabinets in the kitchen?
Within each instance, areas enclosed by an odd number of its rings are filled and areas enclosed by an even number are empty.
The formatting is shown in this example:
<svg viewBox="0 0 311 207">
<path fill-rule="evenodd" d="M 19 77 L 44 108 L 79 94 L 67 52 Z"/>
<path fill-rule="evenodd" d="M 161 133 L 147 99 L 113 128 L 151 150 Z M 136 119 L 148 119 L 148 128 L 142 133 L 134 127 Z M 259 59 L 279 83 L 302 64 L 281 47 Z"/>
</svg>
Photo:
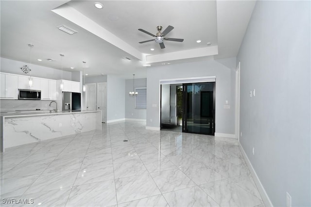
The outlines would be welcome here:
<svg viewBox="0 0 311 207">
<path fill-rule="evenodd" d="M 72 92 L 63 92 L 62 111 L 79 111 L 79 110 L 81 110 L 81 94 Z"/>
</svg>

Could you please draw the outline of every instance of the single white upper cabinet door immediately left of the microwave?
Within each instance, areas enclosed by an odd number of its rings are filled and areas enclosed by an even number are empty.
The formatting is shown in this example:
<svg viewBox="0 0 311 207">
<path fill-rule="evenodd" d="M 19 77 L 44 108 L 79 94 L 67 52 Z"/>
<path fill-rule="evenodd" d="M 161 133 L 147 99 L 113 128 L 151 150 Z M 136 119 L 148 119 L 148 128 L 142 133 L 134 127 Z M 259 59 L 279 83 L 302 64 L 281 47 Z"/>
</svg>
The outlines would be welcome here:
<svg viewBox="0 0 311 207">
<path fill-rule="evenodd" d="M 2 82 L 2 78 L 3 77 L 1 77 L 1 82 Z M 4 84 L 5 97 L 4 98 L 17 99 L 17 85 L 18 85 L 18 76 L 5 74 L 5 84 Z M 2 88 L 2 83 L 1 83 L 1 88 Z"/>
</svg>

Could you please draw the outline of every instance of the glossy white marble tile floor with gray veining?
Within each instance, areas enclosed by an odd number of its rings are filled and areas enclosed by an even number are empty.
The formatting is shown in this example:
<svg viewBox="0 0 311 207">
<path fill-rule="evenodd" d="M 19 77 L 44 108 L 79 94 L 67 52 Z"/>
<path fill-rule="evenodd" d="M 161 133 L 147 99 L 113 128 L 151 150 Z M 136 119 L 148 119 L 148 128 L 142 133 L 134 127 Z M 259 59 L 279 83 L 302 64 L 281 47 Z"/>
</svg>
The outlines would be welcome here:
<svg viewBox="0 0 311 207">
<path fill-rule="evenodd" d="M 140 122 L 9 148 L 0 173 L 2 207 L 264 206 L 237 140 Z"/>
</svg>

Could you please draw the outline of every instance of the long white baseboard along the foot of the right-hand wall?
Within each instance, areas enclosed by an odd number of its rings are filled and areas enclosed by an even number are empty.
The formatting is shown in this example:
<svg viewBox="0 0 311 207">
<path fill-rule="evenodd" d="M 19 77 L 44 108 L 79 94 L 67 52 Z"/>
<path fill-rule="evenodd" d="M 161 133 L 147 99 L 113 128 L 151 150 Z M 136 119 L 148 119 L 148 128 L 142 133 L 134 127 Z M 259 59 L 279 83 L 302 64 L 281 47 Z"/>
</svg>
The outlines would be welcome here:
<svg viewBox="0 0 311 207">
<path fill-rule="evenodd" d="M 263 188 L 263 186 L 262 186 L 262 184 L 261 184 L 261 182 L 259 180 L 259 177 L 257 176 L 257 174 L 256 174 L 256 172 L 255 172 L 255 170 L 253 168 L 252 163 L 249 161 L 249 159 L 248 159 L 248 157 L 247 157 L 247 155 L 246 155 L 246 153 L 245 153 L 241 143 L 239 143 L 239 146 L 240 146 L 242 155 L 243 155 L 243 157 L 244 157 L 244 159 L 246 161 L 246 164 L 247 164 L 247 166 L 248 166 L 248 168 L 249 168 L 249 170 L 250 170 L 250 172 L 251 172 L 251 174 L 253 176 L 254 182 L 255 182 L 255 184 L 256 184 L 256 186 L 258 188 L 258 191 L 259 191 L 259 193 L 261 195 L 261 198 L 262 198 L 262 200 L 264 202 L 264 205 L 266 207 L 273 207 L 272 202 L 271 202 L 267 192 L 264 190 L 264 188 Z"/>
</svg>

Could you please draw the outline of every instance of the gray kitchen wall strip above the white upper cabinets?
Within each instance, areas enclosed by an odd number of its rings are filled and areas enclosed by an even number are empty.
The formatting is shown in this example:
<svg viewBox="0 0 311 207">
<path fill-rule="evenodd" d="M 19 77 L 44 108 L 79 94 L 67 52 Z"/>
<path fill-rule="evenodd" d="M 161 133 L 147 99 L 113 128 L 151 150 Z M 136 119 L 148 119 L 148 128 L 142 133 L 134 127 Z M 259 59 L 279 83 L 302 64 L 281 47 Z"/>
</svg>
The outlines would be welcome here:
<svg viewBox="0 0 311 207">
<path fill-rule="evenodd" d="M 29 63 L 24 63 L 20 61 L 15 61 L 15 60 L 10 60 L 6 58 L 1 58 L 1 68 L 0 71 L 4 73 L 12 73 L 12 74 L 17 74 L 17 75 L 24 75 L 24 76 L 30 76 L 30 73 L 24 73 L 21 71 L 20 67 L 23 65 L 28 65 Z M 45 79 L 53 79 L 53 80 L 60 80 L 62 77 L 62 72 L 61 70 L 54 69 L 51 67 L 44 67 L 40 65 L 31 65 L 31 72 L 32 76 L 38 77 L 38 78 L 45 78 Z M 63 79 L 64 80 L 72 80 L 71 79 L 71 72 L 69 71 L 64 71 L 63 70 Z"/>
</svg>

